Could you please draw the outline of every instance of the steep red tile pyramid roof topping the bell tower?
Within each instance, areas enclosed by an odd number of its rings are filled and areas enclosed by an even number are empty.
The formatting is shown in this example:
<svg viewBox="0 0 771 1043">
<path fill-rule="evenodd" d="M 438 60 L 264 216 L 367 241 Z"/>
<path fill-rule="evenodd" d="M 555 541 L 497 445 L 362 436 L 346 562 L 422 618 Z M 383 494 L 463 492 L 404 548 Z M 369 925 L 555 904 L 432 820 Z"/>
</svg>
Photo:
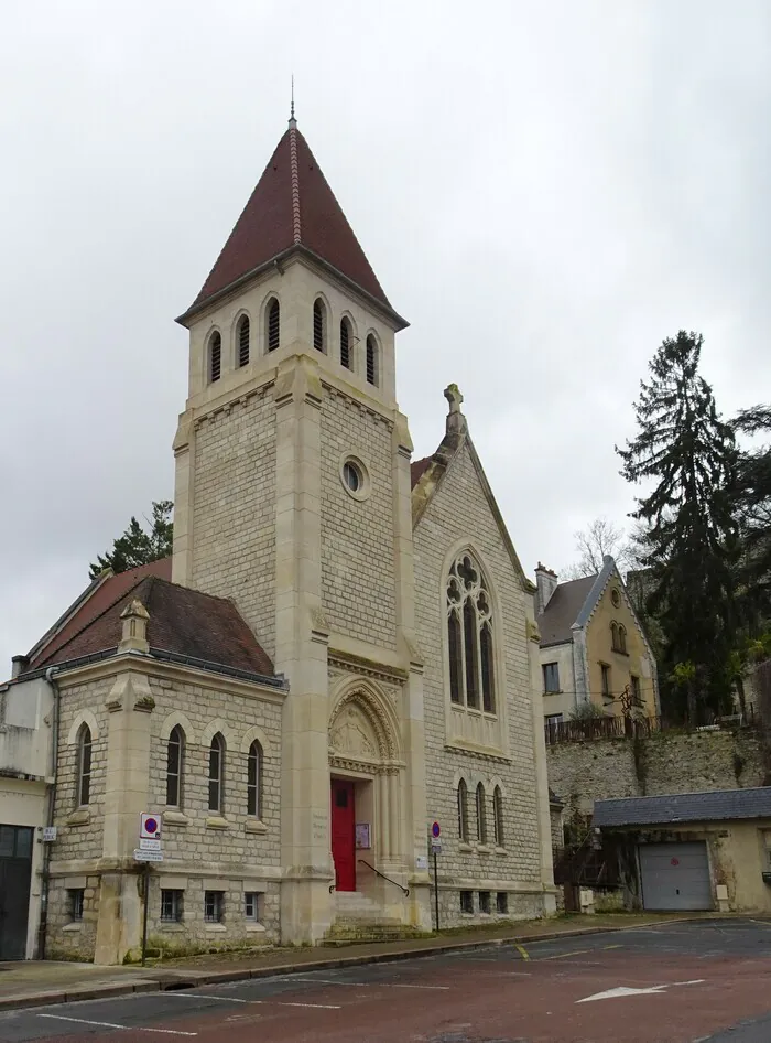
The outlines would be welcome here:
<svg viewBox="0 0 771 1043">
<path fill-rule="evenodd" d="M 292 123 L 192 308 L 293 246 L 304 246 L 391 308 L 335 194 Z"/>
</svg>

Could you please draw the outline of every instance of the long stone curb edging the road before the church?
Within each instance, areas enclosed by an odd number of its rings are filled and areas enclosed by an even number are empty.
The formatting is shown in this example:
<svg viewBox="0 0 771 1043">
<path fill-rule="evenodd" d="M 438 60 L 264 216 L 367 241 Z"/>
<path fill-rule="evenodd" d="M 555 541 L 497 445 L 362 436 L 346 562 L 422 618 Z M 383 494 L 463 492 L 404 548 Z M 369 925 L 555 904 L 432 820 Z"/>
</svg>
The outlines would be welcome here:
<svg viewBox="0 0 771 1043">
<path fill-rule="evenodd" d="M 619 925 L 617 927 L 576 927 L 575 931 L 544 931 L 542 934 L 520 937 L 507 935 L 503 938 L 475 938 L 473 942 L 447 942 L 445 945 L 423 946 L 417 949 L 397 949 L 390 953 L 367 953 L 360 956 L 337 956 L 326 959 L 303 961 L 302 964 L 276 964 L 272 967 L 250 967 L 242 970 L 222 970 L 211 974 L 175 978 L 142 979 L 126 985 L 96 986 L 94 988 L 37 992 L 31 996 L 9 996 L 0 998 L 0 1011 L 23 1010 L 32 1007 L 54 1007 L 58 1003 L 75 1003 L 83 1000 L 110 999 L 118 996 L 131 996 L 134 992 L 178 992 L 200 986 L 218 985 L 228 981 L 248 981 L 249 979 L 279 978 L 284 975 L 301 975 L 314 970 L 338 970 L 345 967 L 365 967 L 368 964 L 392 964 L 398 960 L 422 959 L 443 953 L 473 951 L 503 945 L 532 945 L 536 942 L 554 942 L 558 938 L 580 938 L 593 934 L 613 934 L 619 931 L 637 931 L 644 927 L 660 927 L 663 924 L 693 923 L 705 917 L 693 916 L 677 920 L 655 920 L 644 924 Z M 173 974 L 173 971 L 166 971 Z"/>
</svg>

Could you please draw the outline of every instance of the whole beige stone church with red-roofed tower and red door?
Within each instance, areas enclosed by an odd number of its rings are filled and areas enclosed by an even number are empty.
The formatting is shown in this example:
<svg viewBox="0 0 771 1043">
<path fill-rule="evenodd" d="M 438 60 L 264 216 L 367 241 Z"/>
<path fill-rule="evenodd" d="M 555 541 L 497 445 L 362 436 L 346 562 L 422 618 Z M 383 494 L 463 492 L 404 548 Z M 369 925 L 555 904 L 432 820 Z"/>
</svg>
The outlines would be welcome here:
<svg viewBox="0 0 771 1043">
<path fill-rule="evenodd" d="M 173 560 L 28 660 L 58 700 L 47 944 L 315 943 L 555 906 L 534 585 L 449 387 L 411 465 L 386 297 L 294 120 L 193 305 Z"/>
</svg>

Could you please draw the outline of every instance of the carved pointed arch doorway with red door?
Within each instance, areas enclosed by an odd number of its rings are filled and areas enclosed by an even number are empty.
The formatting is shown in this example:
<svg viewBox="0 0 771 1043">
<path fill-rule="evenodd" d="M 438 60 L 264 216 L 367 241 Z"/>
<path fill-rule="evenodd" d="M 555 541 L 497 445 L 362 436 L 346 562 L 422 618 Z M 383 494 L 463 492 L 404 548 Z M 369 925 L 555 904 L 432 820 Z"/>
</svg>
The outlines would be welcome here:
<svg viewBox="0 0 771 1043">
<path fill-rule="evenodd" d="M 352 684 L 329 720 L 332 854 L 338 892 L 367 891 L 373 870 L 401 868 L 401 786 L 395 717 L 386 698 Z M 358 843 L 358 846 L 357 846 Z"/>
</svg>

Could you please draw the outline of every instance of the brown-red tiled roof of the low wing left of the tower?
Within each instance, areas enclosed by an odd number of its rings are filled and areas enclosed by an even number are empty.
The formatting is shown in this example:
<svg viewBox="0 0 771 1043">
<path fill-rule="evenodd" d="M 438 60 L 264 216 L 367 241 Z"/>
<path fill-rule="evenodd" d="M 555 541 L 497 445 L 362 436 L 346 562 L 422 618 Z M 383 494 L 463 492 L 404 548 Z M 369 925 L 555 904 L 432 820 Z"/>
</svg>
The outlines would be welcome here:
<svg viewBox="0 0 771 1043">
<path fill-rule="evenodd" d="M 70 620 L 67 632 L 58 635 L 30 663 L 24 674 L 57 664 L 117 649 L 121 638 L 120 613 L 132 601 L 148 610 L 148 642 L 151 652 L 220 665 L 230 669 L 273 676 L 273 664 L 231 601 L 180 587 L 155 572 L 166 571 L 170 559 L 152 562 L 132 572 L 111 577 L 104 596 L 89 603 Z M 142 574 L 143 573 L 143 574 Z M 112 584 L 111 581 L 121 582 Z M 115 596 L 108 598 L 111 591 Z M 86 611 L 90 605 L 90 611 Z M 77 625 L 79 623 L 79 625 Z M 24 675 L 22 675 L 23 677 Z"/>
</svg>

